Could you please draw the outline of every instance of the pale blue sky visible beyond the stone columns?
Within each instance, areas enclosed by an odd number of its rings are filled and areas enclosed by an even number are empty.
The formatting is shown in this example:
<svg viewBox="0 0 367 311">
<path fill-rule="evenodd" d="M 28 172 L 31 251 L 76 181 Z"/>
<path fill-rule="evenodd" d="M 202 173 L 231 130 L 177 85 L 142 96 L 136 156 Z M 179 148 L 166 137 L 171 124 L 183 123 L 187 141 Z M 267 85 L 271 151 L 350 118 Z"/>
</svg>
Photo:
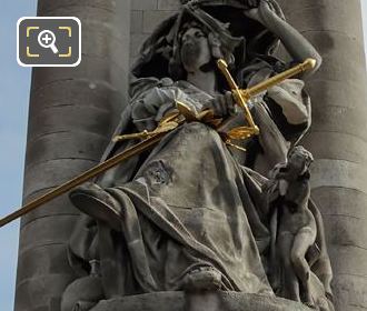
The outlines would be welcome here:
<svg viewBox="0 0 367 311">
<path fill-rule="evenodd" d="M 51 0 L 50 0 L 51 1 Z M 361 0 L 367 30 L 367 0 Z M 21 204 L 30 69 L 17 63 L 16 24 L 37 0 L 2 0 L 0 12 L 0 217 Z M 367 31 L 365 32 L 367 42 Z M 367 44 L 366 44 L 367 47 Z M 367 50 L 367 49 L 366 49 Z M 0 310 L 13 310 L 19 221 L 0 229 Z"/>
</svg>

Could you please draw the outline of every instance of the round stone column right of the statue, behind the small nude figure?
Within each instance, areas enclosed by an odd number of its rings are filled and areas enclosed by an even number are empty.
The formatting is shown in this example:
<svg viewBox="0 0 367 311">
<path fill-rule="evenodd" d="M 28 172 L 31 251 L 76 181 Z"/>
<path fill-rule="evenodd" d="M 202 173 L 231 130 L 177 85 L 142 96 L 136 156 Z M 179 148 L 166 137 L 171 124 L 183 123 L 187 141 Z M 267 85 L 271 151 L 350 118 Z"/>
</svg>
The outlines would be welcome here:
<svg viewBox="0 0 367 311">
<path fill-rule="evenodd" d="M 279 0 L 321 53 L 308 81 L 313 197 L 325 220 L 336 309 L 367 310 L 367 79 L 359 0 Z"/>
</svg>

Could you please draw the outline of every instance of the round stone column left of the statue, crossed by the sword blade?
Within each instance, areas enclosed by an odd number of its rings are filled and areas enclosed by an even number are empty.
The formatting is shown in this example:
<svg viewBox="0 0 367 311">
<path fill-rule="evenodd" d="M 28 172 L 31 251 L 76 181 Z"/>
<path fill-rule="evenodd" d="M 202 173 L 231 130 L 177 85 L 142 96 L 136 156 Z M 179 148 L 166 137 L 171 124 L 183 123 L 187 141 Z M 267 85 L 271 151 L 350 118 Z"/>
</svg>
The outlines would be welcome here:
<svg viewBox="0 0 367 311">
<path fill-rule="evenodd" d="M 78 17 L 82 59 L 32 72 L 24 202 L 98 163 L 128 90 L 129 0 L 39 0 L 38 16 Z M 63 195 L 22 218 L 17 311 L 60 310 L 76 278 L 66 247 L 78 215 Z"/>
</svg>

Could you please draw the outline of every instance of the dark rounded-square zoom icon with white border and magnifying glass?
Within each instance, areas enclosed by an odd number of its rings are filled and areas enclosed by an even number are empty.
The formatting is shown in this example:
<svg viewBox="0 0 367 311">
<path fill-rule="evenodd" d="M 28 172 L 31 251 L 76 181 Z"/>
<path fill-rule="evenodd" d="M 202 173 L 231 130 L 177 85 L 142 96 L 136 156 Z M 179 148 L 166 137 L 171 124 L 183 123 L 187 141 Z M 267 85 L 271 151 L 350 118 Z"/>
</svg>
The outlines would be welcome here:
<svg viewBox="0 0 367 311">
<path fill-rule="evenodd" d="M 20 66 L 76 67 L 81 61 L 81 22 L 78 18 L 21 18 L 17 33 Z"/>
</svg>

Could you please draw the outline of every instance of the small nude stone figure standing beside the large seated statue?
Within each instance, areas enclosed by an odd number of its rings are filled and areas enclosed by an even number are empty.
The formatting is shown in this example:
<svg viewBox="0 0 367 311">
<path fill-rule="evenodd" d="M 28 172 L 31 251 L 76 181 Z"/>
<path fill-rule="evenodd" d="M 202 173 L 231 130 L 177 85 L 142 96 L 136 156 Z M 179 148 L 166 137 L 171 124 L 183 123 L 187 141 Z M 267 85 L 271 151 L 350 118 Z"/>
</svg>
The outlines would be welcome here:
<svg viewBox="0 0 367 311">
<path fill-rule="evenodd" d="M 317 235 L 316 220 L 308 209 L 309 165 L 313 160 L 313 154 L 304 147 L 295 147 L 287 162 L 271 170 L 265 187 L 272 208 L 272 257 L 280 261 L 282 271 L 280 294 L 308 305 L 314 305 L 314 300 L 306 253 L 315 244 Z"/>
</svg>

